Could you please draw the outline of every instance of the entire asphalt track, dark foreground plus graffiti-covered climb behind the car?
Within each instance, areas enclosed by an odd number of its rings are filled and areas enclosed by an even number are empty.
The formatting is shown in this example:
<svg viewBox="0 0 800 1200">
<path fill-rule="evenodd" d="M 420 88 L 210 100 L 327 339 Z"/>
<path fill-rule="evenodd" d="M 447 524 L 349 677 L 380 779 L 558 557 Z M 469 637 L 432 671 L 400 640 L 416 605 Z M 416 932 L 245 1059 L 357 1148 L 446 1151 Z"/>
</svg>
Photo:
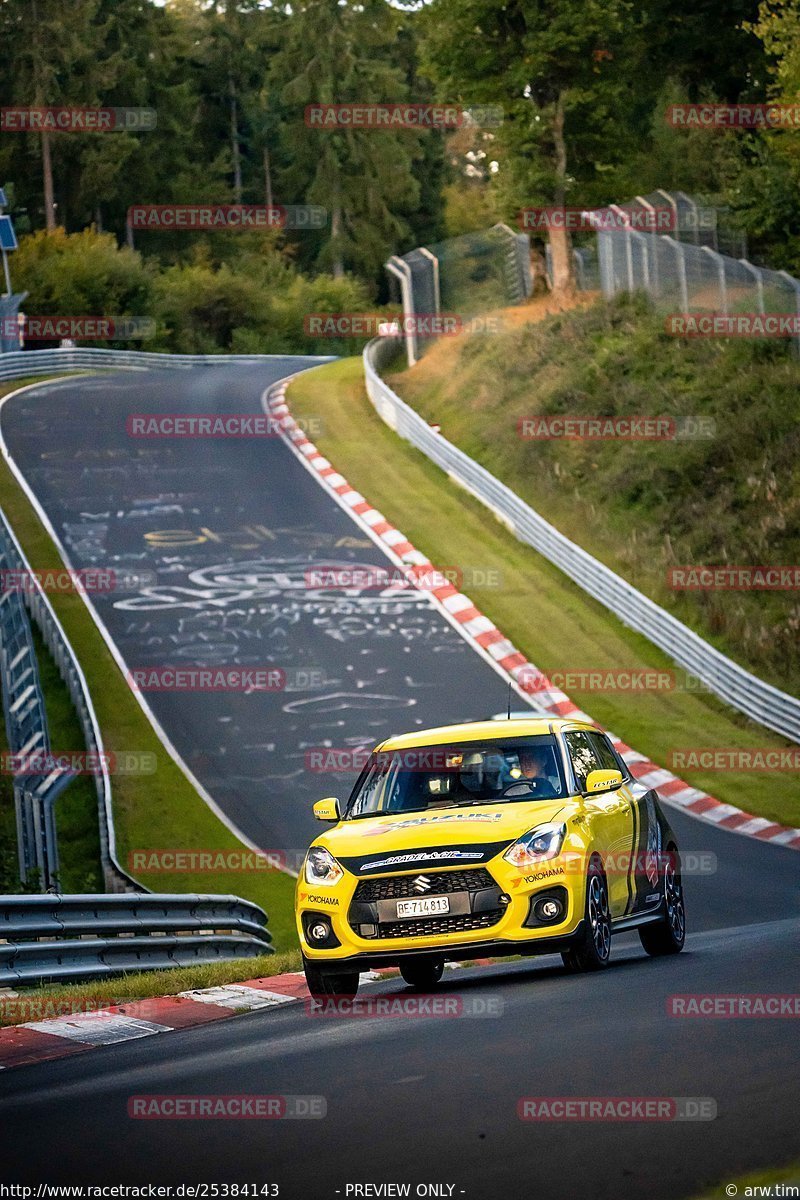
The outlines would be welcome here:
<svg viewBox="0 0 800 1200">
<path fill-rule="evenodd" d="M 10 449 L 59 534 L 71 539 L 74 565 L 157 569 L 164 589 L 197 588 L 190 572 L 206 572 L 205 607 L 169 604 L 144 617 L 115 608 L 114 598 L 97 601 L 130 665 L 133 655 L 139 665 L 145 649 L 145 661 L 166 661 L 164 647 L 182 648 L 184 661 L 200 662 L 198 646 L 239 647 L 241 638 L 227 635 L 249 628 L 259 644 L 247 648 L 248 662 L 312 665 L 335 680 L 327 690 L 350 698 L 393 697 L 368 708 L 348 702 L 335 713 L 317 708 L 312 716 L 285 714 L 284 695 L 237 697 L 233 713 L 227 696 L 194 704 L 185 695 L 154 697 L 167 732 L 215 799 L 260 844 L 312 832 L 307 799 L 324 794 L 325 780 L 309 785 L 296 773 L 303 740 L 377 740 L 390 728 L 485 715 L 505 700 L 499 677 L 425 598 L 399 613 L 360 612 L 367 629 L 360 625 L 357 638 L 331 634 L 327 620 L 314 625 L 314 616 L 330 611 L 295 619 L 296 608 L 287 618 L 282 607 L 282 619 L 273 620 L 287 592 L 297 604 L 285 580 L 273 590 L 270 572 L 277 565 L 302 571 L 333 552 L 337 560 L 381 560 L 372 545 L 357 544 L 357 528 L 281 443 L 163 443 L 142 456 L 125 437 L 132 412 L 257 412 L 270 374 L 278 378 L 297 365 L 224 368 L 224 377 L 219 368 L 44 385 L 2 413 Z M 88 420 L 96 422 L 90 439 L 80 432 Z M 133 518 L 132 511 L 142 516 Z M 261 534 L 266 540 L 255 545 L 255 534 L 242 530 L 258 524 L 275 536 Z M 95 526 L 106 526 L 101 538 L 89 536 Z M 172 552 L 148 550 L 143 538 L 201 527 L 227 538 Z M 342 538 L 356 544 L 342 545 Z M 235 601 L 243 612 L 240 625 L 212 616 L 198 626 L 210 641 L 191 625 L 192 636 L 182 641 L 187 614 L 190 622 L 197 614 L 205 620 L 213 600 L 225 599 L 224 589 L 215 590 L 219 570 L 209 584 L 209 568 L 231 563 L 239 571 L 249 564 L 246 570 L 258 571 L 259 581 L 261 572 L 270 575 L 270 594 Z M 172 594 L 164 590 L 162 598 Z M 219 608 L 225 613 L 229 606 Z M 270 640 L 267 659 L 264 631 L 276 626 L 283 634 Z M 408 629 L 415 632 L 405 637 Z M 161 641 L 149 646 L 150 637 Z M 314 692 L 303 698 L 314 701 Z M 211 752 L 198 757 L 203 738 Z M 267 742 L 275 750 L 252 749 Z M 342 793 L 341 779 L 335 790 Z M 712 868 L 686 880 L 690 940 L 679 958 L 649 960 L 627 935 L 615 941 L 613 966 L 601 976 L 571 977 L 559 960 L 542 959 L 446 978 L 447 991 L 499 1001 L 499 1016 L 312 1019 L 302 1006 L 285 1006 L 169 1033 L 168 1040 L 145 1038 L 2 1073 L 4 1178 L 273 1181 L 293 1200 L 333 1200 L 345 1195 L 347 1184 L 363 1182 L 410 1182 L 411 1194 L 417 1183 L 452 1183 L 453 1196 L 471 1200 L 666 1200 L 796 1159 L 795 1021 L 676 1019 L 667 1013 L 667 998 L 796 992 L 799 859 L 793 851 L 668 812 L 684 854 L 710 856 L 704 862 Z M 403 985 L 389 980 L 377 990 L 397 994 Z M 131 1094 L 245 1092 L 323 1096 L 327 1116 L 199 1124 L 126 1116 Z M 533 1124 L 516 1116 L 523 1096 L 711 1097 L 718 1115 L 712 1122 Z"/>
</svg>

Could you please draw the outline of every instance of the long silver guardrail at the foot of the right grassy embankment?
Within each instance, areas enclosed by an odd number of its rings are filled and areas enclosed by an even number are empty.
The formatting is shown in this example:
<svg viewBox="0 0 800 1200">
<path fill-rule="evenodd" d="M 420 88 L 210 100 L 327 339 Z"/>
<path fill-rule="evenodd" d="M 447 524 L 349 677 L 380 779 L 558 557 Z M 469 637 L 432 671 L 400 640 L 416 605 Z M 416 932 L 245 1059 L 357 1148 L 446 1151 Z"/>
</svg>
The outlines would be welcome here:
<svg viewBox="0 0 800 1200">
<path fill-rule="evenodd" d="M 800 700 L 764 683 L 709 646 L 676 617 L 565 538 L 510 487 L 432 430 L 380 378 L 379 368 L 393 353 L 396 342 L 391 338 L 374 338 L 363 352 L 367 394 L 390 428 L 486 504 L 521 541 L 554 563 L 625 625 L 644 634 L 721 700 L 759 725 L 800 742 Z"/>
</svg>

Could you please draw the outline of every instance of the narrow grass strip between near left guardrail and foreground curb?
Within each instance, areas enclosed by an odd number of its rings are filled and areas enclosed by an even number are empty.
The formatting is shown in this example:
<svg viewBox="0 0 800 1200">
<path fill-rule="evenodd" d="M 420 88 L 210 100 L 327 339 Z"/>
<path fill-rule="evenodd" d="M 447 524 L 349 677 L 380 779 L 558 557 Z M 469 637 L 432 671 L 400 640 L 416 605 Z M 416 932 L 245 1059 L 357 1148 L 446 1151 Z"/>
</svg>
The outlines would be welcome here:
<svg viewBox="0 0 800 1200">
<path fill-rule="evenodd" d="M 28 988 L 16 996 L 0 996 L 0 1026 L 47 1020 L 67 1013 L 94 1012 L 109 1004 L 148 1000 L 150 996 L 175 996 L 179 991 L 192 991 L 196 988 L 216 988 L 245 979 L 269 978 L 284 971 L 299 971 L 300 967 L 300 950 L 290 950 L 254 959 L 233 959 L 229 962 L 172 967 L 168 971 L 139 971 L 119 979 Z"/>
</svg>

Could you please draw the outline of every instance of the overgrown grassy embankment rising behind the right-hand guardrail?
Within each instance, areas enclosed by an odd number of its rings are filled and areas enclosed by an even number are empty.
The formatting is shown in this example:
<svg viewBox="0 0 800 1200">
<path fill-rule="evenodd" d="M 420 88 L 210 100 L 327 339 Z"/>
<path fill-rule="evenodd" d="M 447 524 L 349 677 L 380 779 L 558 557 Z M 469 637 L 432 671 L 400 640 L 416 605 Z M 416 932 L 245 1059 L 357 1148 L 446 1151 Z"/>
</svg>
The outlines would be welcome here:
<svg viewBox="0 0 800 1200">
<path fill-rule="evenodd" d="M 567 538 L 798 694 L 800 593 L 675 592 L 667 582 L 674 565 L 800 563 L 800 366 L 786 341 L 670 337 L 642 300 L 597 301 L 516 319 L 498 336 L 444 338 L 387 382 Z M 519 436 L 521 419 L 572 414 L 694 418 L 716 432 Z"/>
</svg>

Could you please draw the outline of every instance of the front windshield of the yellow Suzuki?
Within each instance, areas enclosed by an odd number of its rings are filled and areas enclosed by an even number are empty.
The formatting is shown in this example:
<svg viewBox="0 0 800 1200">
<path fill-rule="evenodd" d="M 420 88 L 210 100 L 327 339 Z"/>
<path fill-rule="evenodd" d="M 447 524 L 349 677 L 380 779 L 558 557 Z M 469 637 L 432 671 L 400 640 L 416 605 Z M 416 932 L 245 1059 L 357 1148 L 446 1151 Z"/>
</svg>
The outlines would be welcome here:
<svg viewBox="0 0 800 1200">
<path fill-rule="evenodd" d="M 373 754 L 344 818 L 566 796 L 552 734 Z"/>
</svg>

